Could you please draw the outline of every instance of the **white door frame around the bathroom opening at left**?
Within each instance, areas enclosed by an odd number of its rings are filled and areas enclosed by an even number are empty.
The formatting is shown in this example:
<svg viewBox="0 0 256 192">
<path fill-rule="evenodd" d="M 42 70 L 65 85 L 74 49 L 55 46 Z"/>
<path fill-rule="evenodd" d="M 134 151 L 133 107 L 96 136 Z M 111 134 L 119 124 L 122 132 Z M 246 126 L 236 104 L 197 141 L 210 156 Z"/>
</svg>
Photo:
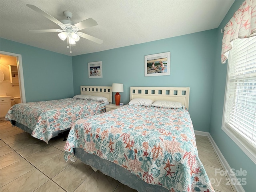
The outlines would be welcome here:
<svg viewBox="0 0 256 192">
<path fill-rule="evenodd" d="M 26 103 L 22 56 L 20 54 L 10 53 L 5 51 L 0 51 L 0 54 L 15 56 L 17 58 L 17 67 L 18 67 L 19 82 L 20 82 L 20 100 L 22 103 Z"/>
</svg>

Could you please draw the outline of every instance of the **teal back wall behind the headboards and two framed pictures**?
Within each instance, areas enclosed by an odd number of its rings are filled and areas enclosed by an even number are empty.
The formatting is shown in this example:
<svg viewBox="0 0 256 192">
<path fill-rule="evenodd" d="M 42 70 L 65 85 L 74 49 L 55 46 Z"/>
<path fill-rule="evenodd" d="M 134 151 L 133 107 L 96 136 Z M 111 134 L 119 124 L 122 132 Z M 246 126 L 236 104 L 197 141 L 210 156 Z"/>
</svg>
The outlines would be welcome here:
<svg viewBox="0 0 256 192">
<path fill-rule="evenodd" d="M 209 132 L 216 30 L 136 44 L 72 57 L 74 94 L 80 85 L 123 83 L 121 102 L 129 102 L 130 86 L 190 87 L 189 112 L 195 130 Z M 144 76 L 144 56 L 170 52 L 169 76 Z M 103 78 L 88 78 L 88 62 L 102 61 Z M 114 94 L 113 94 L 114 102 Z"/>
</svg>

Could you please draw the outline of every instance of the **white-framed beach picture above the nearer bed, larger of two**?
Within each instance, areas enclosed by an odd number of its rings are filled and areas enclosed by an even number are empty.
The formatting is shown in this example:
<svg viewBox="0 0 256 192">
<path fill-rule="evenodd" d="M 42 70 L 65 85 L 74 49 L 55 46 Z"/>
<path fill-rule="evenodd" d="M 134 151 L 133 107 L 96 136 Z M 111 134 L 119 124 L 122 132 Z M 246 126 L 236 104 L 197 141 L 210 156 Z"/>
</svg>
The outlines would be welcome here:
<svg viewBox="0 0 256 192">
<path fill-rule="evenodd" d="M 170 52 L 144 56 L 145 77 L 170 75 Z"/>
</svg>

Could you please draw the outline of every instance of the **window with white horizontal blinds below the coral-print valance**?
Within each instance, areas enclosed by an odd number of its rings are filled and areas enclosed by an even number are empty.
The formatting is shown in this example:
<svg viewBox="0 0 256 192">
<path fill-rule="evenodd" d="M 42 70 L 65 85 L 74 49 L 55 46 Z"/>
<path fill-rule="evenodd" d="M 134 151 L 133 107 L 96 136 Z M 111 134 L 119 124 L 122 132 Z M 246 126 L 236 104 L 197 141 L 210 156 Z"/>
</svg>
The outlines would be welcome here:
<svg viewBox="0 0 256 192">
<path fill-rule="evenodd" d="M 256 36 L 232 44 L 222 129 L 256 163 Z"/>
</svg>

